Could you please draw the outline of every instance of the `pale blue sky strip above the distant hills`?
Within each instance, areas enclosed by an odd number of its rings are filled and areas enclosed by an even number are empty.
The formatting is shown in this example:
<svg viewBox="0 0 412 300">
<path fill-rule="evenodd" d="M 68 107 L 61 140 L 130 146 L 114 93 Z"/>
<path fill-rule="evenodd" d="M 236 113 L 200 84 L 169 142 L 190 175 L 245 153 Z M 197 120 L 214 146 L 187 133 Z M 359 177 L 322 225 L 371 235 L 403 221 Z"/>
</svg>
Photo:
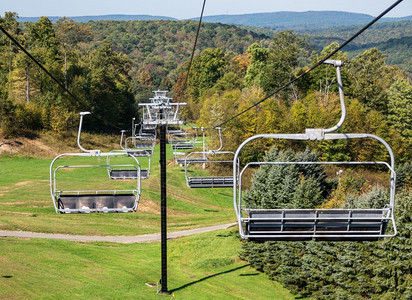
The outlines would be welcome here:
<svg viewBox="0 0 412 300">
<path fill-rule="evenodd" d="M 206 0 L 205 16 L 276 11 L 339 10 L 377 16 L 395 0 Z M 21 17 L 84 15 L 158 15 L 177 19 L 200 15 L 203 0 L 0 0 L 0 15 Z M 388 17 L 412 15 L 412 0 L 404 0 Z"/>
</svg>

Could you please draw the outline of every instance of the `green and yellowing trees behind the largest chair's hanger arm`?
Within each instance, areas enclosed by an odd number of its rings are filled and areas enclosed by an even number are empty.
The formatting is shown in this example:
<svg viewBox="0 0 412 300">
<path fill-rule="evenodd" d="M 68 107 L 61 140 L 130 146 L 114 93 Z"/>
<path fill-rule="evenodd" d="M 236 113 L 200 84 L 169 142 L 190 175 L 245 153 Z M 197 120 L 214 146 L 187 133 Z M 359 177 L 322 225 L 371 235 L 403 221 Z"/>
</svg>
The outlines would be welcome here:
<svg viewBox="0 0 412 300">
<path fill-rule="evenodd" d="M 311 63 L 336 47 L 336 43 L 328 45 L 311 57 Z M 305 41 L 292 31 L 276 34 L 267 47 L 253 43 L 237 55 L 220 48 L 206 49 L 193 61 L 187 90 L 182 72 L 174 95 L 189 102 L 189 119 L 199 120 L 199 126 L 214 127 L 306 71 L 307 55 Z M 394 148 L 398 162 L 409 161 L 412 88 L 406 72 L 387 65 L 385 55 L 376 48 L 353 59 L 345 52 L 338 52 L 334 58 L 346 63 L 342 78 L 348 117 L 341 130 L 381 136 Z M 224 135 L 227 147 L 233 150 L 253 134 L 328 128 L 337 123 L 339 116 L 336 72 L 334 67 L 324 65 L 226 124 Z M 263 149 L 270 146 L 263 145 Z M 303 143 L 300 150 L 307 146 L 322 152 L 323 159 L 386 158 L 384 149 L 376 150 L 373 142 Z M 250 151 L 250 157 L 255 159 L 261 155 Z"/>
</svg>

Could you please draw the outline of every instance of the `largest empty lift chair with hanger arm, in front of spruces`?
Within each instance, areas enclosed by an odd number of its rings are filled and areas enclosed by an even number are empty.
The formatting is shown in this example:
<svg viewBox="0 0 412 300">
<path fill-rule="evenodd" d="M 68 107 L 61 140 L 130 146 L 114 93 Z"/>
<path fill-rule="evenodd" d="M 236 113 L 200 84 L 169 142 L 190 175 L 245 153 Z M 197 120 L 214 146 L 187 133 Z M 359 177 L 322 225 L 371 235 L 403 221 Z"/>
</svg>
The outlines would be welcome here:
<svg viewBox="0 0 412 300">
<path fill-rule="evenodd" d="M 395 158 L 390 146 L 380 137 L 367 133 L 333 133 L 344 122 L 346 109 L 342 80 L 340 76 L 341 61 L 327 60 L 326 64 L 336 68 L 342 116 L 334 127 L 329 129 L 306 129 L 302 134 L 259 134 L 245 140 L 237 149 L 233 160 L 233 202 L 242 238 L 260 241 L 277 240 L 327 240 L 327 241 L 375 241 L 383 237 L 393 237 L 397 233 L 394 220 L 395 209 Z M 241 150 L 250 142 L 258 139 L 277 139 L 290 141 L 322 141 L 341 139 L 374 139 L 388 151 L 390 162 L 250 162 L 242 170 L 237 168 Z M 247 168 L 261 165 L 372 165 L 386 166 L 390 172 L 390 195 L 387 205 L 374 209 L 256 209 L 247 207 L 242 202 L 242 176 Z M 392 227 L 392 232 L 387 229 Z"/>
</svg>

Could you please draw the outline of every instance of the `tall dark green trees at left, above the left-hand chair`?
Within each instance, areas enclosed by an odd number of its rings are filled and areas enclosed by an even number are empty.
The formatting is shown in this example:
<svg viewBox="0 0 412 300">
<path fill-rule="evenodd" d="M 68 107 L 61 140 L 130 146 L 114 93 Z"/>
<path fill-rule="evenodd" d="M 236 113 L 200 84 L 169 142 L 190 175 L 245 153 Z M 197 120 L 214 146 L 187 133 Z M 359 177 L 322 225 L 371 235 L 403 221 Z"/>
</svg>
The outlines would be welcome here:
<svg viewBox="0 0 412 300">
<path fill-rule="evenodd" d="M 22 26 L 17 19 L 15 13 L 8 12 L 0 24 L 75 98 L 2 34 L 0 122 L 4 135 L 27 129 L 72 130 L 76 113 L 86 110 L 96 116 L 90 128 L 110 132 L 136 115 L 131 61 L 125 54 L 116 52 L 108 41 L 92 47 L 91 28 L 86 24 L 66 18 L 52 24 L 41 17 Z"/>
</svg>

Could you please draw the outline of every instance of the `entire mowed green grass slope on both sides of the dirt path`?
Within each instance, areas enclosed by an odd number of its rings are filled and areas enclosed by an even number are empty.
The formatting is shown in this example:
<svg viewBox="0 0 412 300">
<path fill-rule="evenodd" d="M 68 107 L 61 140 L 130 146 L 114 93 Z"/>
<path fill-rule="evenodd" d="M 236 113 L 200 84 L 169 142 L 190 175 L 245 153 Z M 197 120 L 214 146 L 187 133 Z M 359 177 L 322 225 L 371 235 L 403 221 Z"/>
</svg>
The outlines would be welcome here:
<svg viewBox="0 0 412 300">
<path fill-rule="evenodd" d="M 233 222 L 231 189 L 189 189 L 184 170 L 168 154 L 168 230 Z M 90 159 L 90 161 L 89 161 Z M 64 165 L 97 158 L 62 160 Z M 82 235 L 160 231 L 159 149 L 142 180 L 137 213 L 56 214 L 49 187 L 52 157 L 0 157 L 0 229 Z M 98 162 L 98 161 L 97 161 Z M 115 163 L 128 163 L 123 159 Z M 147 161 L 142 167 L 147 167 Z M 101 164 L 105 164 L 104 158 Z M 196 174 L 206 174 L 196 170 Z M 129 189 L 105 169 L 62 169 L 59 189 Z M 293 299 L 286 289 L 239 259 L 236 228 L 170 240 L 168 287 L 174 299 Z M 160 243 L 79 243 L 0 238 L 0 299 L 170 299 L 156 294 Z"/>
</svg>

